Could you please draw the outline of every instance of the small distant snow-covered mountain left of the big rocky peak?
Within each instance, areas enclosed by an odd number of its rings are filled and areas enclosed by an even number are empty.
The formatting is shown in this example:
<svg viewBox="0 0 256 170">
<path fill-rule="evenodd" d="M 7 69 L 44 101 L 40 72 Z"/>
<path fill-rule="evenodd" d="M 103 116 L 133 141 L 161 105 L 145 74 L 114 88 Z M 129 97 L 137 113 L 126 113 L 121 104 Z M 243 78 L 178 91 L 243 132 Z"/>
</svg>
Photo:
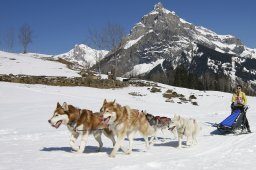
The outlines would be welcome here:
<svg viewBox="0 0 256 170">
<path fill-rule="evenodd" d="M 85 67 L 91 67 L 104 58 L 108 53 L 106 50 L 96 50 L 88 47 L 85 44 L 75 45 L 73 49 L 64 54 L 54 56 L 54 58 L 63 58 L 72 63 L 78 63 Z"/>
</svg>

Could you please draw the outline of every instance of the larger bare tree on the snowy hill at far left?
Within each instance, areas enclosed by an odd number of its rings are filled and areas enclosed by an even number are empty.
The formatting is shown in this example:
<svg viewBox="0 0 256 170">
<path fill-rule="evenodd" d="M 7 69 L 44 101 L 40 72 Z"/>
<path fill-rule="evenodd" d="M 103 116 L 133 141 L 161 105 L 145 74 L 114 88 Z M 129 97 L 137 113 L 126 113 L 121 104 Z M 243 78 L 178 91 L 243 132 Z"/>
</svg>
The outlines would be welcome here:
<svg viewBox="0 0 256 170">
<path fill-rule="evenodd" d="M 19 40 L 23 46 L 23 53 L 27 53 L 27 47 L 32 43 L 32 31 L 28 24 L 24 24 L 20 28 Z"/>
</svg>

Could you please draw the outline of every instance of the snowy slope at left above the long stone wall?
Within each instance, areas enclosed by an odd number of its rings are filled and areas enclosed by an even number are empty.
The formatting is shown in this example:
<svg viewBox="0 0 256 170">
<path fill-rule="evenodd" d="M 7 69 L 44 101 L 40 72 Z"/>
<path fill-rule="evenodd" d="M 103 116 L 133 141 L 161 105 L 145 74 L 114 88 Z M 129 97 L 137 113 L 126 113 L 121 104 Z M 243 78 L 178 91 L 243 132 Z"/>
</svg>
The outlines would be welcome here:
<svg viewBox="0 0 256 170">
<path fill-rule="evenodd" d="M 76 71 L 70 70 L 66 65 L 44 60 L 51 57 L 43 54 L 16 54 L 0 51 L 0 74 L 23 74 L 34 76 L 67 76 L 78 77 Z"/>
</svg>

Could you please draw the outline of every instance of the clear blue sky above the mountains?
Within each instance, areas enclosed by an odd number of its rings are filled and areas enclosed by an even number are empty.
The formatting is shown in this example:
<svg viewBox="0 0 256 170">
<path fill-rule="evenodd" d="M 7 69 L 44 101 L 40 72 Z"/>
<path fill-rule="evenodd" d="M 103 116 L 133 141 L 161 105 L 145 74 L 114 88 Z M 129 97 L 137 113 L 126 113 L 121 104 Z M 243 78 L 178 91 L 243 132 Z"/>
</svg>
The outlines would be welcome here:
<svg viewBox="0 0 256 170">
<path fill-rule="evenodd" d="M 60 54 L 75 44 L 89 44 L 88 30 L 117 23 L 129 33 L 134 24 L 161 2 L 194 25 L 231 34 L 256 48 L 255 0 L 0 0 L 0 50 L 13 29 L 24 23 L 33 31 L 30 52 Z M 15 51 L 21 51 L 16 38 Z"/>
</svg>

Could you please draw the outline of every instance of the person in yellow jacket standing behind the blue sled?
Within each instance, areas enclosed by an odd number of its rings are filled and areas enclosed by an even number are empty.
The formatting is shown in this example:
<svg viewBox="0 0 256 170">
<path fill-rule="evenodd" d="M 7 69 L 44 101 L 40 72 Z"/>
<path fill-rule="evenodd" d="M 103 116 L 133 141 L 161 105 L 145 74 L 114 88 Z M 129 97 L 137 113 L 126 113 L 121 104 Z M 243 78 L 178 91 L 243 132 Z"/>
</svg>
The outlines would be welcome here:
<svg viewBox="0 0 256 170">
<path fill-rule="evenodd" d="M 232 113 L 233 113 L 233 110 L 236 108 L 241 109 L 242 112 L 244 112 L 244 123 L 247 129 L 247 132 L 251 133 L 250 125 L 246 117 L 246 111 L 248 109 L 247 97 L 245 93 L 242 92 L 241 85 L 236 86 L 236 92 L 232 96 L 232 104 L 231 104 Z"/>
</svg>

